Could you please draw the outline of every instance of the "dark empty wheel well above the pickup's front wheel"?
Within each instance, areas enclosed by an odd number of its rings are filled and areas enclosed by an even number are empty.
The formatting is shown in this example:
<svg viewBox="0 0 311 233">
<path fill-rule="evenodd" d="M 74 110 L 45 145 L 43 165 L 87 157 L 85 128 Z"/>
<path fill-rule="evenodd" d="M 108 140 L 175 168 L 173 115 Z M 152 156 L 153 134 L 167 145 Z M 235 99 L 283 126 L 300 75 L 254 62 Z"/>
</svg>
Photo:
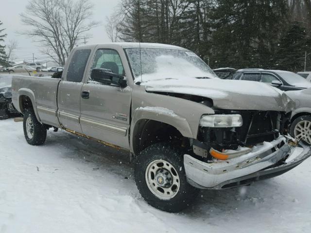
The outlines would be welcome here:
<svg viewBox="0 0 311 233">
<path fill-rule="evenodd" d="M 140 151 L 159 142 L 169 142 L 175 147 L 188 148 L 190 142 L 172 125 L 150 119 L 140 119 L 133 131 L 133 152 Z"/>
</svg>

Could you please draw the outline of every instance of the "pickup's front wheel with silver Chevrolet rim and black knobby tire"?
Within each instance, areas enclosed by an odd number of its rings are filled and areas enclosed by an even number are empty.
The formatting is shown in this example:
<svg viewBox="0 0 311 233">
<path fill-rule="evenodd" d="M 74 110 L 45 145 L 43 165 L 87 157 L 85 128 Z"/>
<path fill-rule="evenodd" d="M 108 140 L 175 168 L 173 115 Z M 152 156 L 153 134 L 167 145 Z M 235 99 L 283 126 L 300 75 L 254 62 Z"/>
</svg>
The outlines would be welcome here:
<svg viewBox="0 0 311 233">
<path fill-rule="evenodd" d="M 199 193 L 187 183 L 182 154 L 165 143 L 152 145 L 138 155 L 135 181 L 150 205 L 167 212 L 187 208 Z"/>
</svg>

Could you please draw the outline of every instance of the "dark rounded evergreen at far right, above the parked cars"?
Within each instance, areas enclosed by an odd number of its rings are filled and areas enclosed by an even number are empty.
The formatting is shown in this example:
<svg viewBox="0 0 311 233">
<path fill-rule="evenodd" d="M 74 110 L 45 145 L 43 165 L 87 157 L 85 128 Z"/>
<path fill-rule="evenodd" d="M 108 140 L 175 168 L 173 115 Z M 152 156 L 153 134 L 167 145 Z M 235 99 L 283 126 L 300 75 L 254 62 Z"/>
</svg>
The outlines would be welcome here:
<svg viewBox="0 0 311 233">
<path fill-rule="evenodd" d="M 276 50 L 274 68 L 290 71 L 304 70 L 305 54 L 309 54 L 311 40 L 306 28 L 293 23 L 284 33 Z M 310 64 L 308 59 L 308 64 Z"/>
</svg>

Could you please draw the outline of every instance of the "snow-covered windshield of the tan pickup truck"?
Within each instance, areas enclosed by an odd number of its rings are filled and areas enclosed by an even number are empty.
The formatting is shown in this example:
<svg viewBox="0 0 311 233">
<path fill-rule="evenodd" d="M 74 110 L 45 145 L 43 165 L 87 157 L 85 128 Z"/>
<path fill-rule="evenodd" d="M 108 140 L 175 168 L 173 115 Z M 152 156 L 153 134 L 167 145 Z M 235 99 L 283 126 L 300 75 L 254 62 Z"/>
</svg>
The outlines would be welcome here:
<svg viewBox="0 0 311 233">
<path fill-rule="evenodd" d="M 187 50 L 141 48 L 139 51 L 139 48 L 131 48 L 125 51 L 134 78 L 139 81 L 140 79 L 147 82 L 161 79 L 218 78 L 195 53 Z"/>
</svg>

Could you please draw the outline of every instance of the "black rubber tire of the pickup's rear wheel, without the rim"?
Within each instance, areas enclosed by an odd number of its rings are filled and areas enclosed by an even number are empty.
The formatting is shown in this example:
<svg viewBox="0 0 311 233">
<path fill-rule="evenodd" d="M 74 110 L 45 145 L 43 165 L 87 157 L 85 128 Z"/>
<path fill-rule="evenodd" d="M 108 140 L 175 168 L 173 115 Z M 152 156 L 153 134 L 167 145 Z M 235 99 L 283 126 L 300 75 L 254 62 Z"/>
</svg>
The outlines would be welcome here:
<svg viewBox="0 0 311 233">
<path fill-rule="evenodd" d="M 27 129 L 26 129 L 28 118 L 30 118 L 32 125 L 33 125 L 32 127 L 33 136 L 32 137 L 28 135 Z M 35 112 L 33 110 L 25 109 L 23 129 L 24 129 L 25 139 L 27 143 L 30 145 L 33 145 L 33 146 L 42 145 L 47 138 L 47 128 L 37 120 L 35 116 Z"/>
</svg>

